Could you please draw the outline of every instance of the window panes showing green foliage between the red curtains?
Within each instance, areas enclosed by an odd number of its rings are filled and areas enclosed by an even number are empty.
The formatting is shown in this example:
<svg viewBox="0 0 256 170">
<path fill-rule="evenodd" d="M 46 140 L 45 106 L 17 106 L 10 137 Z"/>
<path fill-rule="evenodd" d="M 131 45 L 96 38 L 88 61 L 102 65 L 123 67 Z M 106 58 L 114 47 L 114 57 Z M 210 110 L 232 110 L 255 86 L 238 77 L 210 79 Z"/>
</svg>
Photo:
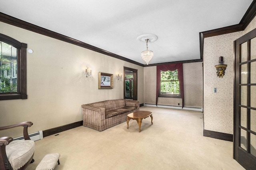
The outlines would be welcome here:
<svg viewBox="0 0 256 170">
<path fill-rule="evenodd" d="M 161 71 L 160 96 L 180 96 L 178 70 Z"/>
</svg>

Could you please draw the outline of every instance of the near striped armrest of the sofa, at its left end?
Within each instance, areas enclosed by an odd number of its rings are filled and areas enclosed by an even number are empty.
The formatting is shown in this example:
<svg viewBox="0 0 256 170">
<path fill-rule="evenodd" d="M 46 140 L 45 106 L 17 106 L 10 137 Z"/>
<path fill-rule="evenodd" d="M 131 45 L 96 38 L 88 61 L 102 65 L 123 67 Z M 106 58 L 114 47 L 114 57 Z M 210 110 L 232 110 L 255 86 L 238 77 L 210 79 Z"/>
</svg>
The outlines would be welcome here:
<svg viewBox="0 0 256 170">
<path fill-rule="evenodd" d="M 82 105 L 83 121 L 94 125 L 102 126 L 106 119 L 106 109 L 104 107 L 93 107 Z"/>
</svg>

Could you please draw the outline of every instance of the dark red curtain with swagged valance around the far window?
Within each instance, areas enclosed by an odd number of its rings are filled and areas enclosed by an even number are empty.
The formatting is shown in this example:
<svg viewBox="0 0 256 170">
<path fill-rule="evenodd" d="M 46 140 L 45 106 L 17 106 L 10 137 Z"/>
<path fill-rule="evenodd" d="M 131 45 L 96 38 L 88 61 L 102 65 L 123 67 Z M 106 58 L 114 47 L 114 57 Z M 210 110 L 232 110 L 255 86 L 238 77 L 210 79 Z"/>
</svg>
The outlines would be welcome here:
<svg viewBox="0 0 256 170">
<path fill-rule="evenodd" d="M 182 108 L 184 107 L 184 85 L 183 85 L 183 66 L 182 63 L 164 64 L 156 66 L 156 105 L 158 102 L 158 94 L 161 85 L 161 71 L 178 70 L 178 79 L 180 82 L 180 96 L 182 98 Z"/>
</svg>

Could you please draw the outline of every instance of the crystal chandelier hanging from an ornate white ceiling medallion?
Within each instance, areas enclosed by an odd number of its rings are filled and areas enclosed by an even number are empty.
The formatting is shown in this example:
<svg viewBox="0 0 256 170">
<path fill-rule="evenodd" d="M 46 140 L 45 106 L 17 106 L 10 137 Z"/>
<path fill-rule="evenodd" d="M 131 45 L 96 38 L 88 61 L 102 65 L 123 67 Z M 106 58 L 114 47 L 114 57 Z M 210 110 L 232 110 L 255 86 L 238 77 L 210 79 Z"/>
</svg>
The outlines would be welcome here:
<svg viewBox="0 0 256 170">
<path fill-rule="evenodd" d="M 157 40 L 157 36 L 153 35 L 153 34 L 144 34 L 144 35 L 140 35 L 137 40 L 141 41 L 141 42 L 145 42 L 147 44 L 147 49 L 145 51 L 141 52 L 141 57 L 142 59 L 146 62 L 146 64 L 148 65 L 149 61 L 153 58 L 153 51 L 148 50 L 148 42 L 154 42 Z"/>
</svg>

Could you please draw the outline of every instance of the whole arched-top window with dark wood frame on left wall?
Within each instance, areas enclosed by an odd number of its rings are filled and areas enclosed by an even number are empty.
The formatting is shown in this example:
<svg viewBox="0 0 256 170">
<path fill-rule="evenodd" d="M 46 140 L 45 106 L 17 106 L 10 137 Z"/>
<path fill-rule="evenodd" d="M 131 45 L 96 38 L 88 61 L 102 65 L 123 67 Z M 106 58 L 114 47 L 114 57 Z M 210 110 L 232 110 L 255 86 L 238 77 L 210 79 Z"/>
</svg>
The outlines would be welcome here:
<svg viewBox="0 0 256 170">
<path fill-rule="evenodd" d="M 0 34 L 0 100 L 27 99 L 25 43 Z"/>
</svg>

